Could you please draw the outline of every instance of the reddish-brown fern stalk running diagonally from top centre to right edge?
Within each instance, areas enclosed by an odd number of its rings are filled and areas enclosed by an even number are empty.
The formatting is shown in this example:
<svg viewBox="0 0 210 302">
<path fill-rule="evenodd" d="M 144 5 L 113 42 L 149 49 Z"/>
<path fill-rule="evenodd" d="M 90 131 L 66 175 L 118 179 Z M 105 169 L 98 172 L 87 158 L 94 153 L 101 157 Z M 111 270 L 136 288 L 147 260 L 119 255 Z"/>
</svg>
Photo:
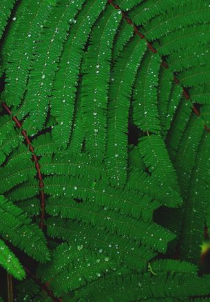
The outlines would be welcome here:
<svg viewBox="0 0 210 302">
<path fill-rule="evenodd" d="M 141 32 L 139 32 L 138 28 L 136 27 L 136 25 L 133 23 L 133 21 L 131 19 L 129 19 L 129 17 L 127 17 L 127 14 L 125 14 L 125 12 L 123 12 L 123 10 L 120 9 L 120 6 L 116 5 L 114 3 L 114 1 L 112 0 L 108 0 L 108 3 L 111 5 L 111 6 L 114 6 L 114 8 L 116 10 L 120 10 L 122 16 L 123 16 L 123 19 L 125 19 L 125 21 L 130 24 L 133 28 L 134 28 L 134 32 L 135 34 L 138 34 L 138 36 L 141 38 L 141 39 L 145 39 L 147 41 L 147 39 L 145 38 L 145 35 L 142 34 Z M 147 48 L 149 50 L 151 50 L 151 52 L 153 53 L 156 53 L 157 50 L 151 45 L 151 43 L 149 41 L 147 41 Z M 162 60 L 162 66 L 167 69 L 169 68 L 169 65 L 167 64 L 166 61 Z M 176 77 L 176 75 L 174 75 L 174 82 L 179 85 L 180 84 L 180 81 L 178 80 L 178 78 Z M 187 92 L 186 88 L 185 87 L 182 87 L 182 93 L 185 97 L 185 99 L 189 100 L 190 99 L 190 95 L 189 95 L 189 92 Z M 195 105 L 193 105 L 193 112 L 197 115 L 197 117 L 200 117 L 200 112 L 196 109 Z M 207 132 L 210 132 L 210 129 L 207 125 L 204 125 L 204 129 L 207 131 Z"/>
</svg>

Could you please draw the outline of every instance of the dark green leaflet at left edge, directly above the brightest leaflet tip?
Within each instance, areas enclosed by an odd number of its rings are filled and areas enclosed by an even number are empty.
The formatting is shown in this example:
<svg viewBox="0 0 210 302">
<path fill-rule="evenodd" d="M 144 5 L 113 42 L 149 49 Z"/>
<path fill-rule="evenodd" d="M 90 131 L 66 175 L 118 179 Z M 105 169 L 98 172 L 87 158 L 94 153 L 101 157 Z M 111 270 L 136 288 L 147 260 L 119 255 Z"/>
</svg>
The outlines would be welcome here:
<svg viewBox="0 0 210 302">
<path fill-rule="evenodd" d="M 49 259 L 43 232 L 11 201 L 0 198 L 1 236 L 40 262 Z"/>
</svg>

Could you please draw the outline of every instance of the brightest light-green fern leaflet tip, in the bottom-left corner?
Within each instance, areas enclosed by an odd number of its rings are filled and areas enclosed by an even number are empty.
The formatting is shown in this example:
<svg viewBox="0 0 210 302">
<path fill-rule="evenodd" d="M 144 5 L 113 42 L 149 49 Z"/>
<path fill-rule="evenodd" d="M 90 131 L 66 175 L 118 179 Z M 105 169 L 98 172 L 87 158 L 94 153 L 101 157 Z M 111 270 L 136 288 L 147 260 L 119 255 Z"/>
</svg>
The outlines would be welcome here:
<svg viewBox="0 0 210 302">
<path fill-rule="evenodd" d="M 8 246 L 0 239 L 0 264 L 12 274 L 14 278 L 22 280 L 25 277 L 25 271 L 17 256 L 10 251 Z M 3 300 L 2 300 L 3 301 Z"/>
</svg>

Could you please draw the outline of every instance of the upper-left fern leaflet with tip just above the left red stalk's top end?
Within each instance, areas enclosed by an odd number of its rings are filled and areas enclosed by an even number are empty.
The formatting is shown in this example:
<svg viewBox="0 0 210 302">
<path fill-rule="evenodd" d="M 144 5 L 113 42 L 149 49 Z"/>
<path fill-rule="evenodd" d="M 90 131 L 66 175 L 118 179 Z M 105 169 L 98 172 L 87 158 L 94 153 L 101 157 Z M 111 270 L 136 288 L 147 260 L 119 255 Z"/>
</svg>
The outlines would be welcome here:
<svg viewBox="0 0 210 302">
<path fill-rule="evenodd" d="M 48 0 L 42 0 L 41 3 L 30 0 L 19 17 L 6 70 L 5 97 L 9 106 L 16 108 L 23 99 L 34 48 L 52 8 Z"/>
</svg>

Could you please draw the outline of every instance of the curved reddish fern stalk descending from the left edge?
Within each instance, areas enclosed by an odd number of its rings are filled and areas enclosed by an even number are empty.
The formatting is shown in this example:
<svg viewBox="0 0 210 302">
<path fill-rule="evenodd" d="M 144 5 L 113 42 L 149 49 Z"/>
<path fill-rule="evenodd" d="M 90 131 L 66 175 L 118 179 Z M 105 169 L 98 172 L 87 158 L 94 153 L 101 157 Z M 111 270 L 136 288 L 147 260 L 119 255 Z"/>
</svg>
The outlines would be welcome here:
<svg viewBox="0 0 210 302">
<path fill-rule="evenodd" d="M 10 114 L 10 116 L 12 116 L 12 111 L 10 110 L 10 108 L 8 108 L 8 106 L 6 105 L 6 103 L 1 103 L 2 107 L 6 110 L 6 112 L 8 112 L 8 114 Z M 15 124 L 17 125 L 17 128 L 21 129 L 22 125 L 21 122 L 17 119 L 17 117 L 12 116 L 13 121 L 15 122 Z M 35 168 L 39 177 L 39 189 L 40 189 L 40 197 L 41 197 L 41 219 L 40 219 L 40 223 L 39 223 L 39 228 L 41 228 L 41 230 L 43 229 L 44 226 L 44 218 L 45 218 L 45 194 L 43 191 L 44 185 L 43 185 L 43 179 L 42 179 L 42 175 L 41 175 L 41 171 L 40 171 L 40 165 L 39 165 L 39 160 L 36 157 L 36 154 L 34 154 L 34 148 L 32 147 L 32 144 L 30 142 L 30 139 L 28 138 L 25 130 L 21 130 L 21 133 L 23 135 L 23 137 L 25 137 L 25 141 L 29 146 L 30 151 L 32 152 L 32 157 L 35 163 Z"/>
</svg>

